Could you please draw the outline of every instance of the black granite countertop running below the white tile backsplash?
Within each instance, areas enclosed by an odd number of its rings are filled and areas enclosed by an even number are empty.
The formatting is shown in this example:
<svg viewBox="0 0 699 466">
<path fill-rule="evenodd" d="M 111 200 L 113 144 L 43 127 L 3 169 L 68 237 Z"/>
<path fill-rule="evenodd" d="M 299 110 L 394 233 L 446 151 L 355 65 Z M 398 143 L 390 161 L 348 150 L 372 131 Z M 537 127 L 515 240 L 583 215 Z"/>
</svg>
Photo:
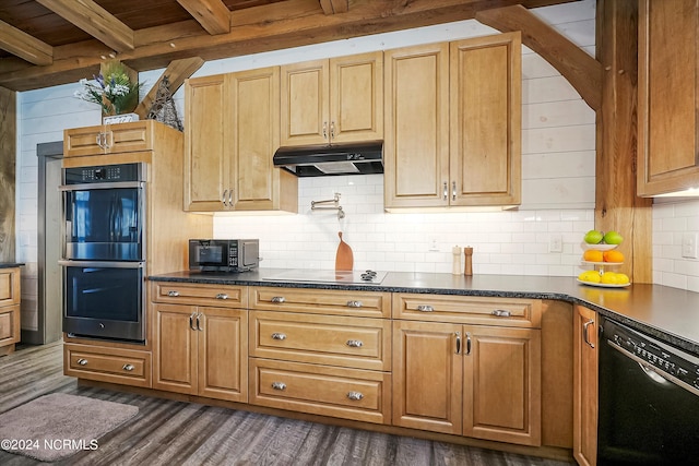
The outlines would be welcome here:
<svg viewBox="0 0 699 466">
<path fill-rule="evenodd" d="M 380 285 L 264 279 L 265 276 L 284 271 L 260 268 L 237 274 L 185 271 L 149 278 L 153 282 L 556 299 L 587 306 L 607 318 L 699 356 L 699 294 L 677 288 L 648 284 L 632 284 L 625 288 L 600 288 L 581 285 L 574 277 L 529 275 L 465 277 L 405 272 L 389 272 Z"/>
</svg>

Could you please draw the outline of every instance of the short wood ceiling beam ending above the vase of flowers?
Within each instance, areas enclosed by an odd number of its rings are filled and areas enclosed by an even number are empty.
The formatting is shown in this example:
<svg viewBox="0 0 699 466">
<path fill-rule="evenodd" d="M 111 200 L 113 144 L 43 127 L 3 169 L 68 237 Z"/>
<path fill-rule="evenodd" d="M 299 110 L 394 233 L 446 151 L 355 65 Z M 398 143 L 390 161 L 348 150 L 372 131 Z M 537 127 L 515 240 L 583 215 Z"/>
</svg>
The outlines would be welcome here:
<svg viewBox="0 0 699 466">
<path fill-rule="evenodd" d="M 93 0 L 36 0 L 114 51 L 133 50 L 133 31 Z"/>
</svg>

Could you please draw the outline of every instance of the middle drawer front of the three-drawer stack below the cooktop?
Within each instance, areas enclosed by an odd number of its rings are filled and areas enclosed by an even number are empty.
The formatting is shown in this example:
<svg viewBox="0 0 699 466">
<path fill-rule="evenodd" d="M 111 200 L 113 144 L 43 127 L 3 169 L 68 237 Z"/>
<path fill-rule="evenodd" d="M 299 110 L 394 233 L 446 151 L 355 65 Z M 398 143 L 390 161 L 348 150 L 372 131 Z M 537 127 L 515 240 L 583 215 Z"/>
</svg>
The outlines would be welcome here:
<svg viewBox="0 0 699 466">
<path fill-rule="evenodd" d="M 250 311 L 250 356 L 391 370 L 391 321 Z"/>
</svg>

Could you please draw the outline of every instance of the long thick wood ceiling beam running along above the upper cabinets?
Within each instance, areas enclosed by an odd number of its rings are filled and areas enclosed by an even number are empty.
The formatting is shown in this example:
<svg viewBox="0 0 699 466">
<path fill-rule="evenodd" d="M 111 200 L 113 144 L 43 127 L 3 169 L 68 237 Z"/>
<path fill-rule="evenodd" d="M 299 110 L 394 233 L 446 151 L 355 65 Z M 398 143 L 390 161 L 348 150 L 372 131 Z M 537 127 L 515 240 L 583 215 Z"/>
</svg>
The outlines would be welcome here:
<svg viewBox="0 0 699 466">
<path fill-rule="evenodd" d="M 135 47 L 117 58 L 137 71 L 149 71 L 190 57 L 209 61 L 470 20 L 494 4 L 538 8 L 568 1 L 572 0 L 353 0 L 346 13 L 325 14 L 319 0 L 288 0 L 236 11 L 226 34 L 210 35 L 194 20 L 139 29 Z M 47 67 L 10 60 L 3 67 L 8 71 L 0 73 L 0 86 L 29 91 L 90 77 L 111 51 L 97 40 L 85 40 L 54 47 L 54 63 Z"/>
</svg>

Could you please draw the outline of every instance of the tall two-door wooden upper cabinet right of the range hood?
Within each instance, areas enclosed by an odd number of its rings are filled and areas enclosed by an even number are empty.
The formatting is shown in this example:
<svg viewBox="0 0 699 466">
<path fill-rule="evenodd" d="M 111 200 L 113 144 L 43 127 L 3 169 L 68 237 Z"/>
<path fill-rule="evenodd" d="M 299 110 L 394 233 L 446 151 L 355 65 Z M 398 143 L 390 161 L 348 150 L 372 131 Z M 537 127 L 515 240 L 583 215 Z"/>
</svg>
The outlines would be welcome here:
<svg viewBox="0 0 699 466">
<path fill-rule="evenodd" d="M 521 201 L 519 33 L 384 52 L 384 206 Z"/>
</svg>

